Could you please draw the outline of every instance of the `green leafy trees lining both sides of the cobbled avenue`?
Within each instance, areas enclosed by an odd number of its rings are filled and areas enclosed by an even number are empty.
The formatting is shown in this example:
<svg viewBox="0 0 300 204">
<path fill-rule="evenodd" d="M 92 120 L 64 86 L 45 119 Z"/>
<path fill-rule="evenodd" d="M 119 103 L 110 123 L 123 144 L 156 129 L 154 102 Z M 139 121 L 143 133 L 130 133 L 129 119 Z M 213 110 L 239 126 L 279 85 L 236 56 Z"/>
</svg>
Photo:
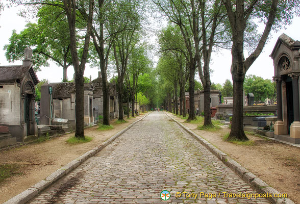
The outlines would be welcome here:
<svg viewBox="0 0 300 204">
<path fill-rule="evenodd" d="M 33 47 L 35 67 L 48 60 L 66 70 L 74 68 L 76 85 L 76 137 L 84 138 L 84 70 L 86 63 L 101 70 L 103 90 L 103 124 L 109 125 L 109 73 L 117 73 L 119 113 L 123 103 L 168 108 L 186 116 L 185 92 L 189 92 L 187 121 L 196 119 L 194 91 L 204 91 L 204 126 L 212 127 L 210 90 L 220 89 L 223 96 L 233 96 L 232 128 L 228 140 L 247 140 L 243 131 L 243 90 L 255 92 L 257 102 L 274 99 L 274 85 L 256 76 L 246 77 L 258 58 L 272 29 L 289 24 L 299 14 L 298 0 L 11 0 L 27 5 L 27 12 L 37 23 L 10 38 L 5 46 L 9 61 L 18 60 L 24 47 Z M 0 4 L 0 9 L 3 5 Z M 153 47 L 145 39 L 147 14 L 156 13 L 168 21 L 157 33 L 159 57 L 154 63 Z M 258 32 L 259 21 L 265 24 Z M 17 46 L 15 46 L 17 45 Z M 231 49 L 232 81 L 223 85 L 210 79 L 212 52 Z M 249 57 L 245 59 L 244 50 Z M 201 81 L 195 80 L 195 75 Z M 254 89 L 253 86 L 256 88 Z M 259 87 L 259 88 L 258 88 Z M 178 107 L 179 98 L 179 107 Z M 172 101 L 173 100 L 173 101 Z M 172 103 L 173 102 L 173 103 Z M 172 107 L 172 104 L 175 104 Z M 144 107 L 143 107 L 144 109 Z M 180 111 L 179 111 L 180 110 Z M 129 106 L 127 106 L 129 115 Z M 119 114 L 119 120 L 123 120 Z"/>
</svg>

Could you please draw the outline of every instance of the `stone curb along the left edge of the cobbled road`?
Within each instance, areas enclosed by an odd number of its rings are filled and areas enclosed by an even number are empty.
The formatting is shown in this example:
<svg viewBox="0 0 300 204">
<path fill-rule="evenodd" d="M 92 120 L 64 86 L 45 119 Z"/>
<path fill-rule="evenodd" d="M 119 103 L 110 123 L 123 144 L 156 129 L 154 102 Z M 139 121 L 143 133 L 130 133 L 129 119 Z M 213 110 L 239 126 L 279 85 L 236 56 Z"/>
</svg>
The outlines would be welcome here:
<svg viewBox="0 0 300 204">
<path fill-rule="evenodd" d="M 61 177 L 69 173 L 71 170 L 74 168 L 78 167 L 80 164 L 82 164 L 84 161 L 89 159 L 90 157 L 94 156 L 97 154 L 97 152 L 101 151 L 104 147 L 112 143 L 115 139 L 117 139 L 120 135 L 122 135 L 124 132 L 128 131 L 133 125 L 135 125 L 137 122 L 141 121 L 144 119 L 147 115 L 150 113 L 144 115 L 142 118 L 138 119 L 137 121 L 134 121 L 130 125 L 128 125 L 126 128 L 123 130 L 119 131 L 116 133 L 114 136 L 109 138 L 107 141 L 103 142 L 101 145 L 94 147 L 93 149 L 89 150 L 82 156 L 74 159 L 73 161 L 69 162 L 62 168 L 56 170 L 52 174 L 48 175 L 46 179 L 39 181 L 32 187 L 28 188 L 27 190 L 19 193 L 18 195 L 10 198 L 9 200 L 5 201 L 3 204 L 24 204 L 34 198 L 36 195 L 41 193 L 45 188 L 59 180 Z"/>
</svg>

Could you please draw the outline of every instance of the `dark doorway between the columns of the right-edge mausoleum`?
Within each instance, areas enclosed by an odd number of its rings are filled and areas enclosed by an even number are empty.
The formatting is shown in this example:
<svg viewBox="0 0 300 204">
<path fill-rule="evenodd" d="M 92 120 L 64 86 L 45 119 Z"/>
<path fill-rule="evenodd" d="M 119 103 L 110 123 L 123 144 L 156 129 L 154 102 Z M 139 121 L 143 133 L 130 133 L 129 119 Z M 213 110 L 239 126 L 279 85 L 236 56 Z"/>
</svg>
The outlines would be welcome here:
<svg viewBox="0 0 300 204">
<path fill-rule="evenodd" d="M 292 80 L 290 78 L 286 80 L 286 100 L 287 100 L 288 134 L 290 134 L 289 127 L 294 121 L 293 86 L 292 86 Z"/>
</svg>

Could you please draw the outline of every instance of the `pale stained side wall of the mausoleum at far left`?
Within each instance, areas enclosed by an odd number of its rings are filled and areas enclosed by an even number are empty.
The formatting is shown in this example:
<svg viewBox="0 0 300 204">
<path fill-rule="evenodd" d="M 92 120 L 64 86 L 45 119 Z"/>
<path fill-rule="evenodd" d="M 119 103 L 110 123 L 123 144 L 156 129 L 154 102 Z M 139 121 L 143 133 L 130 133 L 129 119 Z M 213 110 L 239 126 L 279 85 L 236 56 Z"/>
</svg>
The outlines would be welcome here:
<svg viewBox="0 0 300 204">
<path fill-rule="evenodd" d="M 0 86 L 0 124 L 20 125 L 20 87 L 16 83 Z"/>
</svg>

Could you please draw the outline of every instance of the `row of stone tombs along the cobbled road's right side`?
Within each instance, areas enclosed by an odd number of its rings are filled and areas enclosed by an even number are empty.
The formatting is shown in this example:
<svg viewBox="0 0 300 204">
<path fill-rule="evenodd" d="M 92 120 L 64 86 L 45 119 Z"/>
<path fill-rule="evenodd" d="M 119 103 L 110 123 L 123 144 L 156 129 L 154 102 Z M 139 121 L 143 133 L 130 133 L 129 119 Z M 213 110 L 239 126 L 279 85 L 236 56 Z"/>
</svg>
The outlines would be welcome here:
<svg viewBox="0 0 300 204">
<path fill-rule="evenodd" d="M 270 55 L 274 66 L 277 105 L 254 105 L 254 95 L 244 95 L 244 130 L 294 144 L 300 144 L 300 42 L 282 34 Z M 233 115 L 233 97 L 221 96 L 219 90 L 211 90 L 211 116 L 227 120 Z M 189 112 L 189 93 L 185 93 L 186 111 Z M 204 111 L 204 92 L 194 94 L 197 115 Z M 174 101 L 172 101 L 172 105 Z"/>
</svg>

